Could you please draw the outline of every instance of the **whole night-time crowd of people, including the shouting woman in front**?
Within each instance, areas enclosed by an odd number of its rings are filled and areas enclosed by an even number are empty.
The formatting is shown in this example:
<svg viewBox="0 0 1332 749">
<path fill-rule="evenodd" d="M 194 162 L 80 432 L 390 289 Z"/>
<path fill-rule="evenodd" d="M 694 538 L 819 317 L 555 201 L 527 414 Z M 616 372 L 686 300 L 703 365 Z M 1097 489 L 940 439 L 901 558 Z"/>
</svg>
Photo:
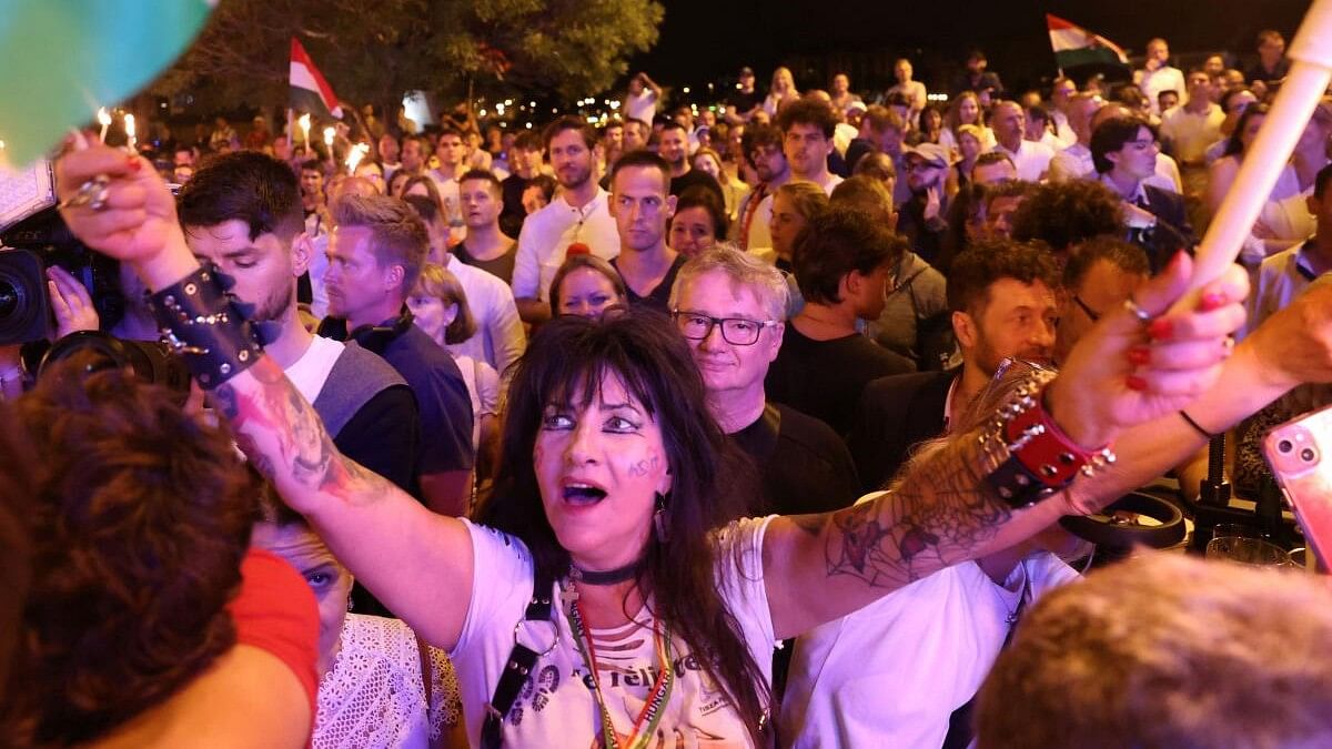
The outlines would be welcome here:
<svg viewBox="0 0 1332 749">
<path fill-rule="evenodd" d="M 900 60 L 875 95 L 743 68 L 697 115 L 639 73 L 599 129 L 72 139 L 60 212 L 125 312 L 52 268 L 56 335 L 160 336 L 194 397 L 0 347 L 0 728 L 1332 741 L 1319 578 L 1146 553 L 1075 584 L 1059 524 L 1196 496 L 1232 429 L 1244 486 L 1332 382 L 1332 99 L 1188 296 L 1283 52 L 1184 73 L 1155 39 L 1048 92 L 975 52 L 947 105 Z"/>
</svg>

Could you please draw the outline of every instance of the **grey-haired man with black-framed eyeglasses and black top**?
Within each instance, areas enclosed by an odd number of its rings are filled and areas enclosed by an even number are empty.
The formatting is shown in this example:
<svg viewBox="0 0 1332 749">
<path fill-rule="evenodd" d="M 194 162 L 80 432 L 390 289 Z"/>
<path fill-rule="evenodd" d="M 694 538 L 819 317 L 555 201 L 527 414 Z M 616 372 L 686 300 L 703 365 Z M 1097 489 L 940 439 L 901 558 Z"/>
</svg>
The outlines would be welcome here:
<svg viewBox="0 0 1332 749">
<path fill-rule="evenodd" d="M 836 433 L 767 400 L 763 378 L 782 348 L 787 293 L 777 268 L 727 245 L 686 263 L 671 289 L 671 317 L 703 376 L 709 409 L 758 466 L 763 490 L 750 514 L 827 512 L 859 496 Z"/>
</svg>

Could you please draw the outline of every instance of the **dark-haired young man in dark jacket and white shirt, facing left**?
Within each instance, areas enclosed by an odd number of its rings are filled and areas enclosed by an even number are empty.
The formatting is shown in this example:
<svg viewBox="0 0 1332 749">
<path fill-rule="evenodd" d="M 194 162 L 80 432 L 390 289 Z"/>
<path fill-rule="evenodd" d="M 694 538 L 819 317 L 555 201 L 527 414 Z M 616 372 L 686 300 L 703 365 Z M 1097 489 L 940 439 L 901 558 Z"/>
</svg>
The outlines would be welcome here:
<svg viewBox="0 0 1332 749">
<path fill-rule="evenodd" d="M 1152 272 L 1197 239 L 1184 199 L 1146 184 L 1156 173 L 1156 128 L 1140 116 L 1110 117 L 1091 136 L 1091 157 L 1100 181 L 1123 200 L 1126 239 L 1147 251 Z"/>
</svg>

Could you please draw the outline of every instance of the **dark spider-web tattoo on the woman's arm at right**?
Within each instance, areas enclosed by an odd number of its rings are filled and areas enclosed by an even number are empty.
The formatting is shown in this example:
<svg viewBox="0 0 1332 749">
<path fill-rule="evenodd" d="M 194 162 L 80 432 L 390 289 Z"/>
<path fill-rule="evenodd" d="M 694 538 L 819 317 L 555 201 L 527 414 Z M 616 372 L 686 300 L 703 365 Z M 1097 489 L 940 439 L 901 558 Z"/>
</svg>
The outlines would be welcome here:
<svg viewBox="0 0 1332 749">
<path fill-rule="evenodd" d="M 1012 516 L 994 496 L 970 436 L 916 465 L 878 500 L 823 516 L 827 574 L 899 588 L 975 556 Z M 813 522 L 801 524 L 806 530 Z"/>
</svg>

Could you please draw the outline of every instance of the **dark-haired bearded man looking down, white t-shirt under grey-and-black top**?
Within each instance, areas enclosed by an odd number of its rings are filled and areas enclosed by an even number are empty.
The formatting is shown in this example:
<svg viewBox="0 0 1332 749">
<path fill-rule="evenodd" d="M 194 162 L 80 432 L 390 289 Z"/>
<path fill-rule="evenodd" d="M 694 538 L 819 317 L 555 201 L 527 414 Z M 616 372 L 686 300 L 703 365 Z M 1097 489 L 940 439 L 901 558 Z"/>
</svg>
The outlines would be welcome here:
<svg viewBox="0 0 1332 749">
<path fill-rule="evenodd" d="M 296 308 L 296 280 L 313 247 L 301 225 L 296 176 L 257 152 L 220 156 L 180 193 L 190 251 L 232 279 L 250 319 L 273 329 L 264 351 L 314 405 L 333 442 L 398 486 L 412 485 L 420 418 L 406 382 L 364 348 L 310 335 Z"/>
</svg>

